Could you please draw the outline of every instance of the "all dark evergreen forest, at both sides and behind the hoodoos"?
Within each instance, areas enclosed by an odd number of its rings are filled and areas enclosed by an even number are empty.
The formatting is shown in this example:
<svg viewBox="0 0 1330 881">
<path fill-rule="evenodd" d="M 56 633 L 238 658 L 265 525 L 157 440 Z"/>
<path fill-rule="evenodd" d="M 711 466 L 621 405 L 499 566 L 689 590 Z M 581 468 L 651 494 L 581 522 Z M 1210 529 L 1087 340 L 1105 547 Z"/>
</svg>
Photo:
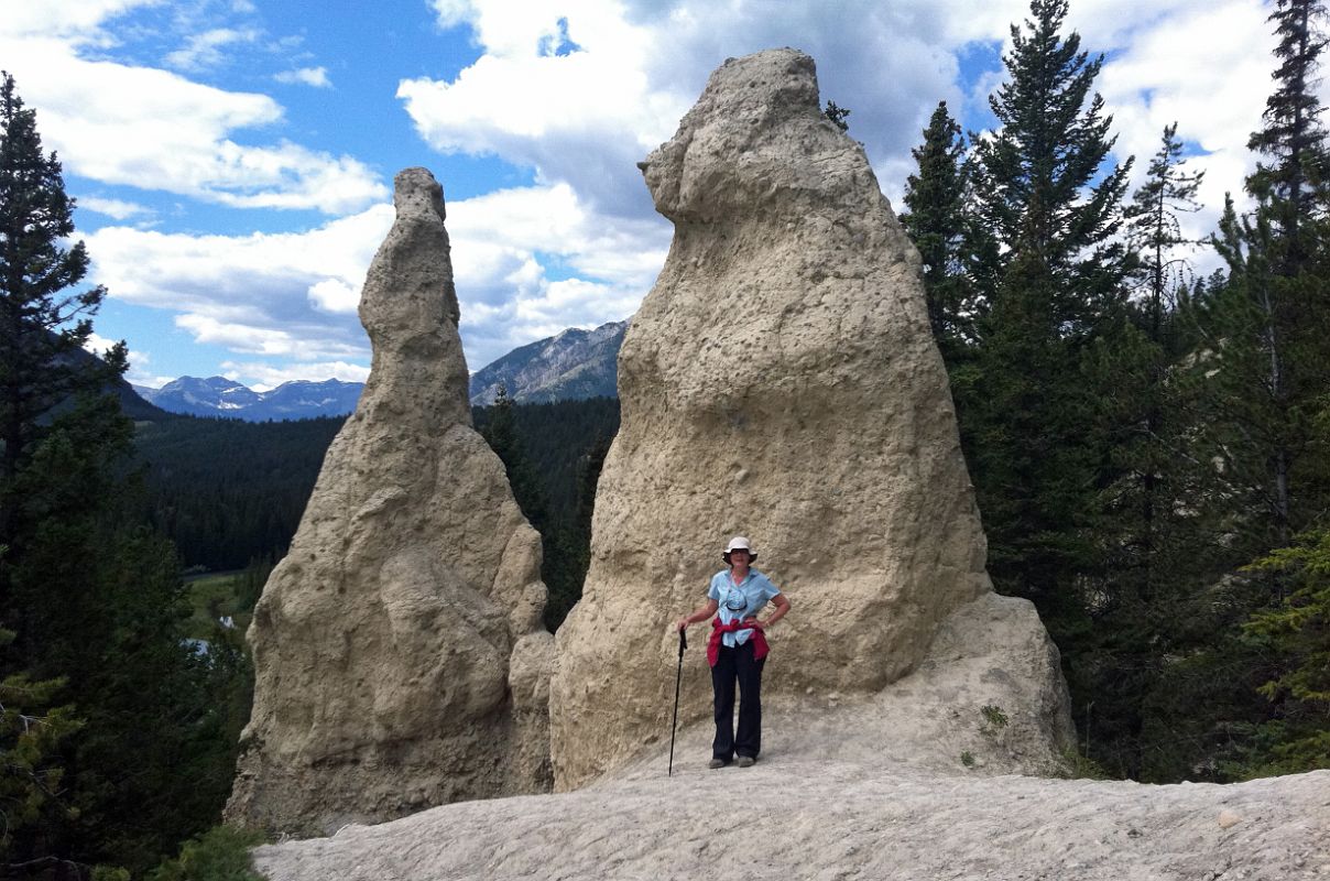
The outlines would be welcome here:
<svg viewBox="0 0 1330 881">
<path fill-rule="evenodd" d="M 1049 628 L 1089 772 L 1330 768 L 1325 5 L 1274 3 L 1256 172 L 1202 233 L 1185 232 L 1188 121 L 1149 157 L 1115 153 L 1103 59 L 1067 12 L 1032 0 L 1012 25 L 992 130 L 938 105 L 900 214 L 990 572 Z M 849 126 L 849 109 L 827 113 Z M 124 345 L 77 357 L 108 293 L 88 269 L 60 162 L 4 75 L 0 876 L 200 877 L 197 854 L 247 841 L 207 830 L 253 671 L 238 629 L 192 629 L 185 574 L 239 571 L 227 608 L 251 608 L 340 421 L 130 418 L 108 393 Z M 501 394 L 473 421 L 541 532 L 557 628 L 618 402 Z"/>
</svg>

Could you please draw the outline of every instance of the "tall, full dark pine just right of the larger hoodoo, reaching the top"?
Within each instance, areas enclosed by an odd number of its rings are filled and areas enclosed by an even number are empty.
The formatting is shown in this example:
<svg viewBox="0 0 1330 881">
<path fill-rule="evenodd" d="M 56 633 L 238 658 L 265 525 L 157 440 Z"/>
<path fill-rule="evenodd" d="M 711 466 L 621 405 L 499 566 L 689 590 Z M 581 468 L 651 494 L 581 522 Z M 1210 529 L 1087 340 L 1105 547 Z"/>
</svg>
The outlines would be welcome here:
<svg viewBox="0 0 1330 881">
<path fill-rule="evenodd" d="M 1112 117 L 1092 94 L 1101 59 L 1060 35 L 1065 15 L 1064 0 L 1033 0 L 1031 20 L 1012 27 L 1009 79 L 990 98 L 1000 129 L 971 138 L 990 240 L 976 253 L 992 266 L 978 291 L 976 379 L 958 398 L 990 570 L 1069 620 L 1080 614 L 1072 586 L 1092 566 L 1107 442 L 1085 358 L 1121 317 L 1132 262 L 1117 241 L 1130 162 L 1108 164 Z"/>
</svg>

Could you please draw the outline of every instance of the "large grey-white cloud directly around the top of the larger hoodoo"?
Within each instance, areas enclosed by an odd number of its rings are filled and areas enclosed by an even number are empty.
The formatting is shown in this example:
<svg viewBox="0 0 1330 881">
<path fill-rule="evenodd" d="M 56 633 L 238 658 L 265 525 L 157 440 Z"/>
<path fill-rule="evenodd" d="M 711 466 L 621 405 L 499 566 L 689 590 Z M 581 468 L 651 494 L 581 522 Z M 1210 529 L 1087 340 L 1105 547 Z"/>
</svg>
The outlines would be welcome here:
<svg viewBox="0 0 1330 881">
<path fill-rule="evenodd" d="M 492 153 L 568 182 L 613 216 L 646 216 L 634 168 L 666 140 L 726 56 L 797 45 L 819 63 L 826 97 L 850 106 L 879 169 L 908 154 L 956 61 L 927 4 L 674 3 L 616 0 L 443 3 L 484 55 L 451 81 L 403 80 L 398 97 L 420 136 L 451 153 Z M 853 21 L 853 27 L 846 27 Z M 559 47 L 563 47 L 560 53 Z M 866 137 L 870 134 L 871 137 Z"/>
</svg>

